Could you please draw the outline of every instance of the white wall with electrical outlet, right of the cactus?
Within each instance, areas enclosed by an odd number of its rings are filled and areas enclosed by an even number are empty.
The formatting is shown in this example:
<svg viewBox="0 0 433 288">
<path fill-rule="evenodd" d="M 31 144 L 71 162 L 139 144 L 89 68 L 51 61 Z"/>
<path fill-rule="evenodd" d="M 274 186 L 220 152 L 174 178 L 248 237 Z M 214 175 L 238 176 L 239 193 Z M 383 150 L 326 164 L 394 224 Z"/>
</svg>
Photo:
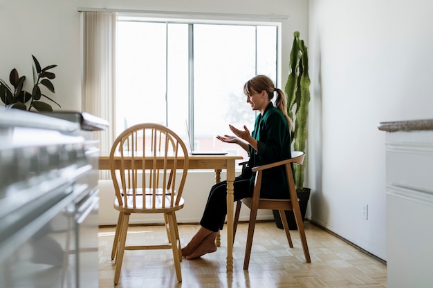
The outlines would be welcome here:
<svg viewBox="0 0 433 288">
<path fill-rule="evenodd" d="M 433 117 L 432 11 L 425 0 L 310 1 L 311 219 L 385 260 L 377 126 Z"/>
</svg>

